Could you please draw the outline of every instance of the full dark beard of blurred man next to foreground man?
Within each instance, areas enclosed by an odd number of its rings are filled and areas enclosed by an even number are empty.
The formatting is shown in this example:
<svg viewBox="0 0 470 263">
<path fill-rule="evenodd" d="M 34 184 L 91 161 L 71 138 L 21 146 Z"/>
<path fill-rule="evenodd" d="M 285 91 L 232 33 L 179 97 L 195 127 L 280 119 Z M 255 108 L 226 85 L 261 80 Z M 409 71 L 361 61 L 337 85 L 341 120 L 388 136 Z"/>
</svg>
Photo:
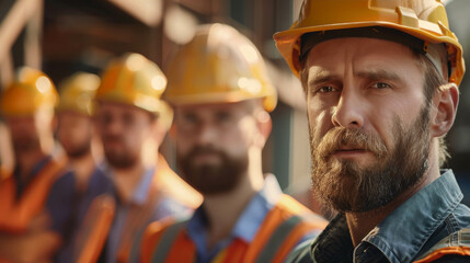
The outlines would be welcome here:
<svg viewBox="0 0 470 263">
<path fill-rule="evenodd" d="M 196 164 L 194 159 L 198 155 L 217 155 L 219 164 Z M 213 147 L 197 146 L 187 155 L 179 156 L 179 167 L 186 182 L 204 195 L 222 194 L 232 191 L 248 170 L 248 156 L 229 157 L 221 150 Z"/>
</svg>

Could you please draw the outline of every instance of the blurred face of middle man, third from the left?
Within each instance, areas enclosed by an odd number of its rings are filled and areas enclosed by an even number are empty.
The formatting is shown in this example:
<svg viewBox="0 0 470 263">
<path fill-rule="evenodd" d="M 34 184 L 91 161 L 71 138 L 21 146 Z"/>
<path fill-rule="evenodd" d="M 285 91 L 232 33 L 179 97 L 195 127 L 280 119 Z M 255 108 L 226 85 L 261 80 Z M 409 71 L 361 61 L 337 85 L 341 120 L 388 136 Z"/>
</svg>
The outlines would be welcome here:
<svg viewBox="0 0 470 263">
<path fill-rule="evenodd" d="M 153 118 L 136 106 L 102 102 L 96 112 L 98 130 L 107 162 L 118 169 L 141 160 L 144 141 L 152 135 Z"/>
</svg>

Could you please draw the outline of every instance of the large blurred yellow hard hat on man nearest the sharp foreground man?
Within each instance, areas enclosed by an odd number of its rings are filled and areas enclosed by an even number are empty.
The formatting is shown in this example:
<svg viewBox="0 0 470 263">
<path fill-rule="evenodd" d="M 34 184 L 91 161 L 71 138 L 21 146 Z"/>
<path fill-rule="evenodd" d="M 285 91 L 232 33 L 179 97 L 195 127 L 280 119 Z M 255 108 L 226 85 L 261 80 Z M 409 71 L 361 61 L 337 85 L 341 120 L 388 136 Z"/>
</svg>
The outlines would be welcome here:
<svg viewBox="0 0 470 263">
<path fill-rule="evenodd" d="M 266 111 L 276 107 L 262 56 L 237 30 L 225 24 L 204 25 L 184 45 L 169 66 L 171 104 L 238 102 L 264 99 Z"/>
</svg>

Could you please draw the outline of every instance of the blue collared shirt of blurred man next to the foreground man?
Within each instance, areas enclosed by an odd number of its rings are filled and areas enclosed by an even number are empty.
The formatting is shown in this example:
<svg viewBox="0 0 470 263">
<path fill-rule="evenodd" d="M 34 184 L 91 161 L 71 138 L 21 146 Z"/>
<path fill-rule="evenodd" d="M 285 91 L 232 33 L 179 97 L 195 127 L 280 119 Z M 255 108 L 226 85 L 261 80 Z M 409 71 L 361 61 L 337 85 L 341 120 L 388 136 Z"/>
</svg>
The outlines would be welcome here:
<svg viewBox="0 0 470 263">
<path fill-rule="evenodd" d="M 207 250 L 207 218 L 204 213 L 204 204 L 197 208 L 187 222 L 187 235 L 195 243 L 197 262 L 210 262 L 236 238 L 251 243 L 267 213 L 275 206 L 282 194 L 283 192 L 276 178 L 273 174 L 268 174 L 264 181 L 263 188 L 250 201 L 238 218 L 230 237 L 218 242 L 210 251 Z M 314 235 L 318 235 L 318 232 L 306 235 L 305 239 L 312 238 Z"/>
</svg>

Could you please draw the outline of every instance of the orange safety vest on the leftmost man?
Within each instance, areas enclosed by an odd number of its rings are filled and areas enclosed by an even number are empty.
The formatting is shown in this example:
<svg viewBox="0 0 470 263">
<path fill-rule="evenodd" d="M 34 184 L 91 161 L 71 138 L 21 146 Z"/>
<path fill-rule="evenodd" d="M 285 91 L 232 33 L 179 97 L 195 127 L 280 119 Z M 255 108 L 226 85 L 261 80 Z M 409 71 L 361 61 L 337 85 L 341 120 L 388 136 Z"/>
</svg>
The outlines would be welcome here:
<svg viewBox="0 0 470 263">
<path fill-rule="evenodd" d="M 27 185 L 16 201 L 16 182 L 11 172 L 0 175 L 0 230 L 22 232 L 41 214 L 50 187 L 61 174 L 67 159 L 51 159 Z"/>
</svg>

